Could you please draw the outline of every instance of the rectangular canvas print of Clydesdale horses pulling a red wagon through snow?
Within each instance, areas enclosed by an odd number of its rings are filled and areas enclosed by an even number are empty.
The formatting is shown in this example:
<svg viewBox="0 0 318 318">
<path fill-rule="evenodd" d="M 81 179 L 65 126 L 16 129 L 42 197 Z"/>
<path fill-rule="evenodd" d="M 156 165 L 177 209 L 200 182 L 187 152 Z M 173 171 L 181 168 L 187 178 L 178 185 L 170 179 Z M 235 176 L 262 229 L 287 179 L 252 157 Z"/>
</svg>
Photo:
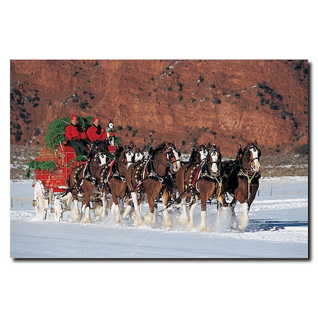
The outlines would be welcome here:
<svg viewBox="0 0 318 318">
<path fill-rule="evenodd" d="M 13 259 L 308 259 L 307 60 L 11 60 Z"/>
</svg>

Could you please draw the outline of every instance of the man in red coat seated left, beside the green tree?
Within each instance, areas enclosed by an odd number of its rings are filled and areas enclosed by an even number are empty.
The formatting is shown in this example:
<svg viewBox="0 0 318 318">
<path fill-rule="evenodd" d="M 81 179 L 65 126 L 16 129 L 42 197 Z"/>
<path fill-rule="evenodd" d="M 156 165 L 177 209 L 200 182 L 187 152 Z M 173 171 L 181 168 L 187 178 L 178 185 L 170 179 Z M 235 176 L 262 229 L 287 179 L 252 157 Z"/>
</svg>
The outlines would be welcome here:
<svg viewBox="0 0 318 318">
<path fill-rule="evenodd" d="M 66 126 L 65 136 L 67 144 L 74 148 L 76 156 L 86 155 L 87 148 L 83 141 L 86 139 L 86 133 L 78 126 L 76 114 L 71 115 L 71 124 Z"/>
</svg>

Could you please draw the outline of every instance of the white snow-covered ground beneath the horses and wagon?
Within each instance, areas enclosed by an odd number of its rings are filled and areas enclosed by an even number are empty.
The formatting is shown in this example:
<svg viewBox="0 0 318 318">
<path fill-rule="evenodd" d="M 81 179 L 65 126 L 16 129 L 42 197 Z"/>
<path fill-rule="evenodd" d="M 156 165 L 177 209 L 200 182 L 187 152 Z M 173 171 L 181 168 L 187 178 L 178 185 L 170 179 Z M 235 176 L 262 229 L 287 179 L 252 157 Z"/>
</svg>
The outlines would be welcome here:
<svg viewBox="0 0 318 318">
<path fill-rule="evenodd" d="M 308 244 L 308 179 L 261 179 L 245 232 L 216 229 L 216 205 L 208 206 L 210 232 L 191 232 L 180 225 L 172 209 L 172 229 L 135 228 L 131 219 L 114 225 L 105 220 L 73 223 L 69 212 L 62 222 L 53 214 L 39 221 L 32 206 L 31 182 L 11 181 L 10 255 L 24 258 L 68 259 L 306 259 Z M 162 206 L 158 206 L 160 210 Z M 147 205 L 143 207 L 146 212 Z M 237 204 L 237 214 L 241 212 Z M 93 216 L 93 211 L 92 211 Z M 199 206 L 195 223 L 199 225 Z"/>
</svg>

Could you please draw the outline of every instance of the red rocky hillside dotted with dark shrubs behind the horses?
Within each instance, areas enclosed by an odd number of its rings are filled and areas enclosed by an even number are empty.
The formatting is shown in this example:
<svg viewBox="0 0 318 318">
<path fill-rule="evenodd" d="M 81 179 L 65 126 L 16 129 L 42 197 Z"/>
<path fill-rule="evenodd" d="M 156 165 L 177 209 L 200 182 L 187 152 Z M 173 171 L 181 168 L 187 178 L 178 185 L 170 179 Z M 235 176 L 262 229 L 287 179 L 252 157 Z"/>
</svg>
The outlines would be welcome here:
<svg viewBox="0 0 318 318">
<path fill-rule="evenodd" d="M 53 119 L 98 115 L 125 143 L 218 143 L 225 155 L 308 143 L 307 61 L 13 60 L 11 144 L 42 146 Z"/>
</svg>

